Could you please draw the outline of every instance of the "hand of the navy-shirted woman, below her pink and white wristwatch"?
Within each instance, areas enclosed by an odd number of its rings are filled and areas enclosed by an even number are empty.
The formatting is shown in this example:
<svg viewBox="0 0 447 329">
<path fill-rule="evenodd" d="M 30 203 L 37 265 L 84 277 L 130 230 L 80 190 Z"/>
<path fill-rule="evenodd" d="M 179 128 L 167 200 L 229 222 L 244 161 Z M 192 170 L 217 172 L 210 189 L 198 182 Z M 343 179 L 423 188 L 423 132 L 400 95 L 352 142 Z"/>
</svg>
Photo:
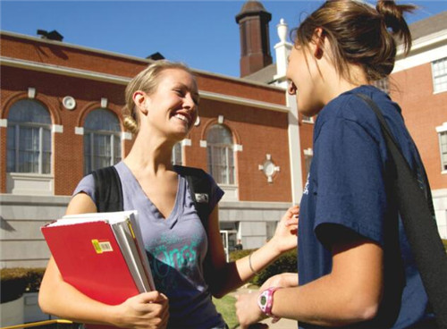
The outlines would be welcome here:
<svg viewBox="0 0 447 329">
<path fill-rule="evenodd" d="M 236 296 L 236 316 L 238 316 L 240 329 L 249 328 L 249 325 L 255 324 L 267 317 L 257 306 L 258 296 L 258 292 L 244 293 Z"/>
</svg>

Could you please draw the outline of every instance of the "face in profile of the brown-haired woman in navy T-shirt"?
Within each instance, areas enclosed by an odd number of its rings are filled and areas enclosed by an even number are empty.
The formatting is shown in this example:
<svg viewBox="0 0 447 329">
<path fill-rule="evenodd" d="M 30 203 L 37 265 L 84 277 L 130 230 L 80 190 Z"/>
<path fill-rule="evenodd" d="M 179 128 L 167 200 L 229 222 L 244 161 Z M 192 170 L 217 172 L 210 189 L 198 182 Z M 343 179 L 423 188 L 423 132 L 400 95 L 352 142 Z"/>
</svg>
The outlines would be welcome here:
<svg viewBox="0 0 447 329">
<path fill-rule="evenodd" d="M 324 106 L 321 96 L 321 71 L 309 48 L 294 46 L 289 55 L 286 77 L 290 81 L 288 92 L 297 98 L 300 113 L 313 116 Z"/>
</svg>

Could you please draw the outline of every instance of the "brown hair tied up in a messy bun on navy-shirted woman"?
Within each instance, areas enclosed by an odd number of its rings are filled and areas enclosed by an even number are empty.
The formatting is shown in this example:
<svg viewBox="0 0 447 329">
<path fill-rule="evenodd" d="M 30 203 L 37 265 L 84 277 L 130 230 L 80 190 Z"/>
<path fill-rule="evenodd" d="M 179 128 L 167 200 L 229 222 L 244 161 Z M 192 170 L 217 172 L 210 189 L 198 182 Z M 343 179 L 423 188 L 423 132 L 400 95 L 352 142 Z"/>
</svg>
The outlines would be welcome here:
<svg viewBox="0 0 447 329">
<path fill-rule="evenodd" d="M 367 80 L 380 80 L 394 67 L 396 41 L 401 38 L 408 54 L 411 48 L 409 26 L 403 13 L 416 6 L 378 0 L 375 8 L 358 0 L 326 1 L 304 20 L 295 34 L 295 46 L 307 47 L 321 28 L 329 39 L 333 63 L 343 77 L 350 79 L 348 63 L 361 65 Z"/>
</svg>

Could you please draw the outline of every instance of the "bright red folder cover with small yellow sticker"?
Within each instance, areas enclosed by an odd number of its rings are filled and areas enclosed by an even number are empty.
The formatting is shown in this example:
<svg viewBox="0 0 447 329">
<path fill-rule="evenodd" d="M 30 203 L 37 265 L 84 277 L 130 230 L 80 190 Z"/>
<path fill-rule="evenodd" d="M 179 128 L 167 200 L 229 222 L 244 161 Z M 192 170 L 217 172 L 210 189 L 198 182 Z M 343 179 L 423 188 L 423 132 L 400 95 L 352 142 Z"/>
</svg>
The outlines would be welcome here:
<svg viewBox="0 0 447 329">
<path fill-rule="evenodd" d="M 117 305 L 139 294 L 110 224 L 44 226 L 42 233 L 63 281 L 91 299 Z"/>
</svg>

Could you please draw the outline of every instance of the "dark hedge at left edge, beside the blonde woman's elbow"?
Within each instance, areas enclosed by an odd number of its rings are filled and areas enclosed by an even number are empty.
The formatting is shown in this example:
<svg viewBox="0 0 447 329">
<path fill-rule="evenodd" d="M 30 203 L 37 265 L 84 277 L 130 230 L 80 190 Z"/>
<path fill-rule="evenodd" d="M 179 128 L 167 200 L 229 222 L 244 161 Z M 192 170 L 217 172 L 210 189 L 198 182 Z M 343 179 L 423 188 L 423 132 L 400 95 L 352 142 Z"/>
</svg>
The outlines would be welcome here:
<svg viewBox="0 0 447 329">
<path fill-rule="evenodd" d="M 2 268 L 0 270 L 0 302 L 18 299 L 24 292 L 37 292 L 45 268 Z"/>
</svg>

